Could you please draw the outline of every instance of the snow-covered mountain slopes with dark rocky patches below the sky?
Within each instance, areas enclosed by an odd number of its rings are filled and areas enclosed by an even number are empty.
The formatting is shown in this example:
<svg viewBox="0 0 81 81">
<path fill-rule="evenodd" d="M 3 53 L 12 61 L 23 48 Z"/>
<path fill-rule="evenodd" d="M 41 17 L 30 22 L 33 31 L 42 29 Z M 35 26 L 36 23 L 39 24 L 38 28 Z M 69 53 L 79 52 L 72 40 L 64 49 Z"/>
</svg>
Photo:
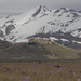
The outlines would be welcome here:
<svg viewBox="0 0 81 81">
<path fill-rule="evenodd" d="M 64 35 L 69 32 L 81 38 L 81 12 L 59 8 L 49 10 L 37 6 L 21 15 L 0 18 L 0 39 L 10 42 L 25 42 L 37 33 Z"/>
</svg>

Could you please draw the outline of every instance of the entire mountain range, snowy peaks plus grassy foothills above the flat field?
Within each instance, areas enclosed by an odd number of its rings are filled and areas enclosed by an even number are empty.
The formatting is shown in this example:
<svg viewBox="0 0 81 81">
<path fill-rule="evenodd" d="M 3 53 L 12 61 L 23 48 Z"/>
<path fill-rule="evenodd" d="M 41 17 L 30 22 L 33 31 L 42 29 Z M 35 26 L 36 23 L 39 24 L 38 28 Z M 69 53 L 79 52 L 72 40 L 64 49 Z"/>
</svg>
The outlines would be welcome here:
<svg viewBox="0 0 81 81">
<path fill-rule="evenodd" d="M 81 59 L 80 50 L 81 11 L 40 5 L 0 18 L 0 59 Z"/>
</svg>

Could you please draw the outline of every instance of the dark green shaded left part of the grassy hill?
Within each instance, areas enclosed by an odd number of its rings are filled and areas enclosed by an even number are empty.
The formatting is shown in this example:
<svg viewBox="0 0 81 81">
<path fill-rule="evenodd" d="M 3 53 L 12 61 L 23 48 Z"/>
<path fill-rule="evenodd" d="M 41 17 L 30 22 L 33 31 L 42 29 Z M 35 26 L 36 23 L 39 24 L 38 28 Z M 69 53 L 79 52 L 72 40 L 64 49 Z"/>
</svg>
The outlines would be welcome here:
<svg viewBox="0 0 81 81">
<path fill-rule="evenodd" d="M 27 43 L 19 43 L 11 46 L 10 49 L 3 49 L 0 52 L 1 59 L 37 59 L 37 58 L 48 58 L 44 54 L 50 54 L 51 52 L 45 50 L 42 44 L 28 45 Z"/>
</svg>

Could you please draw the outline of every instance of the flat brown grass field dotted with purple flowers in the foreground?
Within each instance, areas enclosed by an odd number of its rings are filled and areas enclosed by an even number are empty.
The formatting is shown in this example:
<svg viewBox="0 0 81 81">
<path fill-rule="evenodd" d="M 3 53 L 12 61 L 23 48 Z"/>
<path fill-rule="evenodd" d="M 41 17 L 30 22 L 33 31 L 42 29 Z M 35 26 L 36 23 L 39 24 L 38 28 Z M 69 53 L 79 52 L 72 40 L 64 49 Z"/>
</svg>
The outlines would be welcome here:
<svg viewBox="0 0 81 81">
<path fill-rule="evenodd" d="M 81 81 L 81 60 L 0 63 L 0 81 Z"/>
</svg>

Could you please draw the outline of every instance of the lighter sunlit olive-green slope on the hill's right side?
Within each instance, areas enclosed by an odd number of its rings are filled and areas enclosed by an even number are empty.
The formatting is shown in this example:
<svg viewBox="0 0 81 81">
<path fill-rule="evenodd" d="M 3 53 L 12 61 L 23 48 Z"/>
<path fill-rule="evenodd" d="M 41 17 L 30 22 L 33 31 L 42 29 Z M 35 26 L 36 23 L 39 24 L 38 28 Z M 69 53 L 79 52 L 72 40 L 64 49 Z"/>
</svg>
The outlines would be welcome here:
<svg viewBox="0 0 81 81">
<path fill-rule="evenodd" d="M 51 51 L 57 59 L 78 59 L 78 51 L 65 48 L 59 44 L 46 44 L 44 45 L 48 51 Z"/>
</svg>

